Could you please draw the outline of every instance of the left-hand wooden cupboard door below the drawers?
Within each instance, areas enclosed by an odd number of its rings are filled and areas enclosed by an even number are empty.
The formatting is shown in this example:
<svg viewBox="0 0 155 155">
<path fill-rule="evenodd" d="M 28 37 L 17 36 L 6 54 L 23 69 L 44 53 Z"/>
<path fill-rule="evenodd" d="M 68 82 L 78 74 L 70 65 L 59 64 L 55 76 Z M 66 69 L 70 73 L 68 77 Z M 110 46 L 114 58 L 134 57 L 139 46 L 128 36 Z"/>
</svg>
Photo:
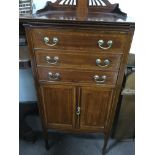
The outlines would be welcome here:
<svg viewBox="0 0 155 155">
<path fill-rule="evenodd" d="M 49 128 L 73 128 L 75 88 L 64 85 L 42 85 L 42 103 Z"/>
</svg>

